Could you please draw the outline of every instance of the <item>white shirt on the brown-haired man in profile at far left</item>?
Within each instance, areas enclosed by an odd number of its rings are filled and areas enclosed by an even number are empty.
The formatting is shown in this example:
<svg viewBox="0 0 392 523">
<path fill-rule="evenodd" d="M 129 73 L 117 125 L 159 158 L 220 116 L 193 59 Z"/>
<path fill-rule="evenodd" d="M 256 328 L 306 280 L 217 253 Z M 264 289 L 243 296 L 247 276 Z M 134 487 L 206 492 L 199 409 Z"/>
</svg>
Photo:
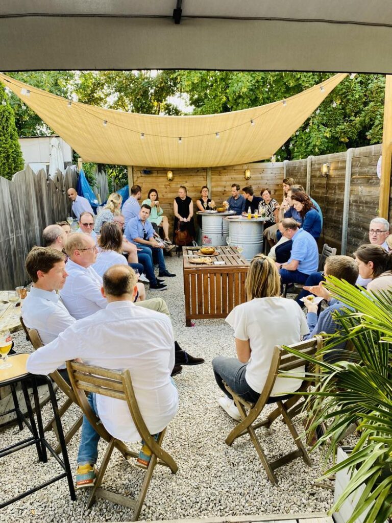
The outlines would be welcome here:
<svg viewBox="0 0 392 523">
<path fill-rule="evenodd" d="M 32 287 L 22 301 L 22 318 L 26 327 L 38 331 L 45 345 L 76 322 L 61 303 L 59 294 L 36 287 Z"/>
</svg>

